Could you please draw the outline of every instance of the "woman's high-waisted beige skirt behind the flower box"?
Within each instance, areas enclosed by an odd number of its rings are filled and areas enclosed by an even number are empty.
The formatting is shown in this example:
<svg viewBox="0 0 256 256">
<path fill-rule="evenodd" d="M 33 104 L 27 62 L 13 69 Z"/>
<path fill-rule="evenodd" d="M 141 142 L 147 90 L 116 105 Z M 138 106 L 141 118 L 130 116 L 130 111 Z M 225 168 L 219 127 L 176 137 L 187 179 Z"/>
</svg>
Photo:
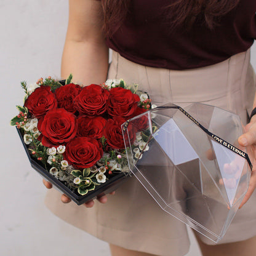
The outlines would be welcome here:
<svg viewBox="0 0 256 256">
<path fill-rule="evenodd" d="M 250 52 L 242 52 L 216 65 L 185 71 L 151 68 L 130 62 L 113 52 L 108 78 L 137 83 L 153 103 L 185 106 L 202 102 L 231 110 L 246 124 L 255 95 L 255 74 Z M 186 225 L 164 212 L 135 177 L 129 178 L 106 204 L 92 208 L 63 204 L 50 190 L 46 205 L 65 222 L 103 241 L 126 249 L 161 256 L 185 255 L 190 246 Z M 234 217 L 220 243 L 242 241 L 256 235 L 256 193 Z M 210 240 L 204 239 L 211 244 Z"/>
</svg>

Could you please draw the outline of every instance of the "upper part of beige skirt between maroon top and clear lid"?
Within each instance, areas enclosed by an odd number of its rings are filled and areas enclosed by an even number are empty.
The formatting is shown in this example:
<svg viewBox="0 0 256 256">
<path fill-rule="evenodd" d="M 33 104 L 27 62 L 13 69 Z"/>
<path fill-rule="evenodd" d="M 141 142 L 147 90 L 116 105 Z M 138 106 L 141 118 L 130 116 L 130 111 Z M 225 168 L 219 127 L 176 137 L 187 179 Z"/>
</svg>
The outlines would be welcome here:
<svg viewBox="0 0 256 256">
<path fill-rule="evenodd" d="M 139 84 L 156 105 L 202 102 L 241 114 L 250 113 L 255 95 L 250 49 L 215 65 L 182 71 L 143 66 L 113 51 L 108 77 Z"/>
</svg>

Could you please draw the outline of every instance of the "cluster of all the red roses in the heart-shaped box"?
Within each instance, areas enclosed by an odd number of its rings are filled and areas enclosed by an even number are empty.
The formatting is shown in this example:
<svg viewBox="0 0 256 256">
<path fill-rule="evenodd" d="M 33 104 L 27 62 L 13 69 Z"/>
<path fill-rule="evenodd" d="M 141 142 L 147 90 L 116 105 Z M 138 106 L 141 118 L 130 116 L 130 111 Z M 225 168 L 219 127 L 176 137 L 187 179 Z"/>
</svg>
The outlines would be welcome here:
<svg viewBox="0 0 256 256">
<path fill-rule="evenodd" d="M 77 168 L 86 168 L 102 158 L 106 148 L 124 148 L 121 124 L 143 113 L 140 98 L 122 87 L 104 89 L 97 84 L 81 88 L 76 84 L 61 86 L 52 92 L 41 85 L 26 99 L 25 106 L 39 119 L 39 140 L 47 147 L 65 145 L 64 158 Z M 145 126 L 144 122 L 138 126 Z M 135 140 L 135 130 L 129 135 Z"/>
</svg>

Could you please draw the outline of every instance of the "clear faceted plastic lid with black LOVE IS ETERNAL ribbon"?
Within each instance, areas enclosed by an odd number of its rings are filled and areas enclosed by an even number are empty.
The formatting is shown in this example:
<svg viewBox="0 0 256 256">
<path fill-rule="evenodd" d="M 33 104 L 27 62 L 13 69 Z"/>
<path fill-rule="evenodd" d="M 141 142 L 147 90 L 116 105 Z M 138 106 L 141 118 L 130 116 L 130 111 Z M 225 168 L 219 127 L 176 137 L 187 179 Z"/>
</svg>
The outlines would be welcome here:
<svg viewBox="0 0 256 256">
<path fill-rule="evenodd" d="M 223 238 L 249 186 L 238 115 L 167 104 L 122 124 L 129 169 L 163 210 L 214 242 Z"/>
</svg>

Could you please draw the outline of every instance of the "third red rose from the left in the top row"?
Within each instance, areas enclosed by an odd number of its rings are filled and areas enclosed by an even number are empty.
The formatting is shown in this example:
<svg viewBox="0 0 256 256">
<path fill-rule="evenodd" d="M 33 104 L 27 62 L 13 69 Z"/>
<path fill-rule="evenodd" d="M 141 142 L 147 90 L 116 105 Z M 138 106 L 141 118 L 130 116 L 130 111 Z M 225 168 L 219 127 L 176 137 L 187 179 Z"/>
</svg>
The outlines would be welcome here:
<svg viewBox="0 0 256 256">
<path fill-rule="evenodd" d="M 80 94 L 74 98 L 74 106 L 81 114 L 88 116 L 100 116 L 106 111 L 108 90 L 97 84 L 91 84 L 82 88 Z"/>
</svg>

